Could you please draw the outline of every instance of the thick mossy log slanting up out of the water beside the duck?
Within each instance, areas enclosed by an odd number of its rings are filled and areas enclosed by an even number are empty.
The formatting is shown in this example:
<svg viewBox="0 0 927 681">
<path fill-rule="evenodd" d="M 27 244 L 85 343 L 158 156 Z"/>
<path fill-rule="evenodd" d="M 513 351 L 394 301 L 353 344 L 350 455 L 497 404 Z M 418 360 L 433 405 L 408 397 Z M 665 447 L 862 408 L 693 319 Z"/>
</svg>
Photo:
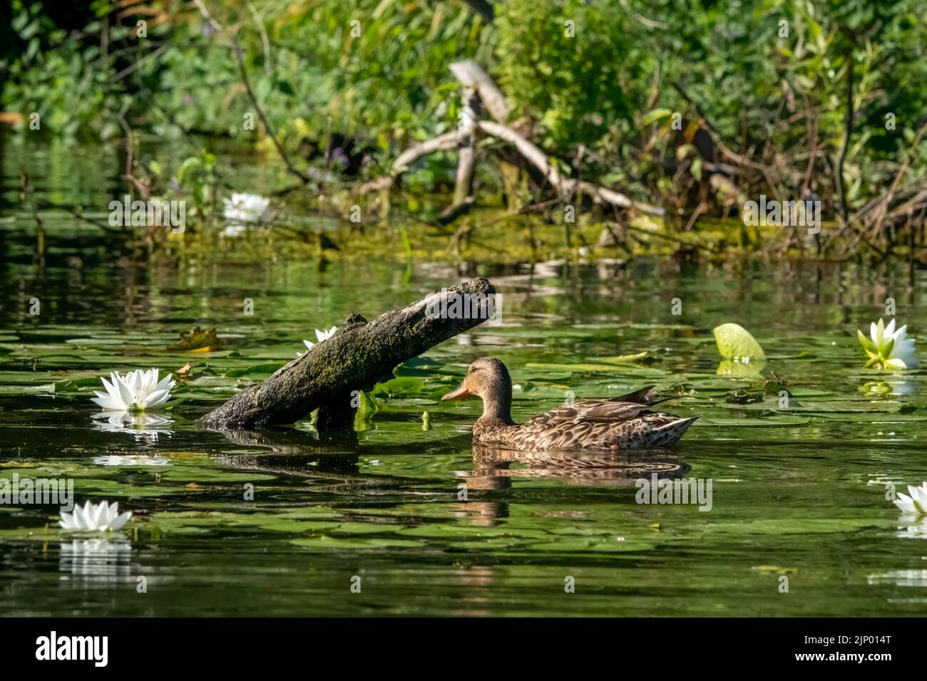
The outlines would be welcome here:
<svg viewBox="0 0 927 681">
<path fill-rule="evenodd" d="M 495 294 L 488 280 L 478 277 L 447 289 L 448 296 L 476 296 L 487 301 Z M 331 338 L 312 347 L 258 385 L 245 388 L 222 407 L 210 411 L 203 423 L 210 428 L 254 429 L 296 422 L 319 410 L 320 432 L 347 428 L 354 420 L 351 392 L 370 390 L 393 376 L 393 370 L 429 347 L 472 329 L 487 314 L 468 319 L 446 319 L 426 312 L 441 296 L 432 293 L 401 309 L 367 322 L 353 313 Z M 478 309 L 486 311 L 488 304 Z M 434 309 L 434 308 L 432 308 Z"/>
</svg>

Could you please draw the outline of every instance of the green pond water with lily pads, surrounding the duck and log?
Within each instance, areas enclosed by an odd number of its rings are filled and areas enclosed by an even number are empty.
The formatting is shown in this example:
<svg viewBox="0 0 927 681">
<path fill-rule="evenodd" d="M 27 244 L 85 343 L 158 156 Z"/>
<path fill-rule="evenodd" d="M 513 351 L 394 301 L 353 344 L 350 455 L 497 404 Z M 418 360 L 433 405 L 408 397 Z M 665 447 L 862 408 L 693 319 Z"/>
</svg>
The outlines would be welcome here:
<svg viewBox="0 0 927 681">
<path fill-rule="evenodd" d="M 149 256 L 64 217 L 44 221 L 37 263 L 14 170 L 6 164 L 0 216 L 0 477 L 72 478 L 79 501 L 118 500 L 133 519 L 116 536 L 74 537 L 57 529 L 56 508 L 0 505 L 0 612 L 925 611 L 927 526 L 886 499 L 889 484 L 905 491 L 927 477 L 924 372 L 864 370 L 854 337 L 885 316 L 889 296 L 919 331 L 920 271 L 672 259 L 462 268 L 391 253 L 320 266 L 297 251 L 248 258 L 234 244 Z M 57 182 L 71 192 L 58 202 L 71 205 L 107 191 Z M 53 194 L 51 181 L 39 186 Z M 356 443 L 320 442 L 310 421 L 234 435 L 197 425 L 293 359 L 314 329 L 475 275 L 502 293 L 502 323 L 379 385 Z M 756 336 L 765 365 L 719 367 L 711 330 L 723 322 Z M 197 324 L 215 326 L 222 347 L 167 349 Z M 470 444 L 476 400 L 439 401 L 483 355 L 508 365 L 516 421 L 568 391 L 650 384 L 679 395 L 667 410 L 703 418 L 668 453 L 501 460 Z M 90 401 L 108 372 L 186 363 L 192 373 L 161 420 L 110 422 Z M 730 401 L 736 390 L 761 401 Z M 710 511 L 636 502 L 636 478 L 670 470 L 712 481 Z"/>
</svg>

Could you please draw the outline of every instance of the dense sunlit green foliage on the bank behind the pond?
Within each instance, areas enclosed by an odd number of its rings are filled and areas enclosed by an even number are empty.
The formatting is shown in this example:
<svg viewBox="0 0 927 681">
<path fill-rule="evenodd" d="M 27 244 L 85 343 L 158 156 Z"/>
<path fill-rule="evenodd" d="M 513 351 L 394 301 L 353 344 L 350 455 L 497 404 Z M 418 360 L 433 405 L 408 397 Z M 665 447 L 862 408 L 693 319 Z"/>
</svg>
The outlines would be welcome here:
<svg viewBox="0 0 927 681">
<path fill-rule="evenodd" d="M 205 6 L 211 19 L 193 4 L 95 0 L 66 30 L 15 0 L 3 107 L 23 130 L 38 112 L 41 134 L 74 139 L 194 131 L 270 151 L 273 132 L 300 168 L 338 133 L 376 150 L 363 170 L 375 175 L 453 129 L 449 65 L 473 58 L 567 173 L 680 212 L 705 199 L 715 162 L 739 166 L 711 185 L 717 213 L 733 197 L 815 191 L 839 214 L 883 195 L 906 159 L 901 184 L 927 170 L 918 0 L 504 0 L 491 21 L 463 0 Z"/>
</svg>

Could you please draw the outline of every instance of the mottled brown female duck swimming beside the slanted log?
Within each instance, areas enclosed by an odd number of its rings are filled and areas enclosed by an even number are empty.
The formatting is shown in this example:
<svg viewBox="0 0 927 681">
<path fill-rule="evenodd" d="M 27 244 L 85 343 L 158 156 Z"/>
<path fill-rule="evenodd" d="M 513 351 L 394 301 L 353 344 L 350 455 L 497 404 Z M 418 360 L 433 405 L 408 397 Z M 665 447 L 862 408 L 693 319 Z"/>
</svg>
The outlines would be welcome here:
<svg viewBox="0 0 927 681">
<path fill-rule="evenodd" d="M 512 421 L 512 378 L 499 359 L 476 359 L 464 382 L 441 399 L 478 395 L 483 415 L 473 427 L 473 441 L 513 449 L 638 449 L 670 447 L 697 419 L 648 411 L 650 385 L 621 397 L 587 399 L 559 407 L 524 423 Z"/>
</svg>

